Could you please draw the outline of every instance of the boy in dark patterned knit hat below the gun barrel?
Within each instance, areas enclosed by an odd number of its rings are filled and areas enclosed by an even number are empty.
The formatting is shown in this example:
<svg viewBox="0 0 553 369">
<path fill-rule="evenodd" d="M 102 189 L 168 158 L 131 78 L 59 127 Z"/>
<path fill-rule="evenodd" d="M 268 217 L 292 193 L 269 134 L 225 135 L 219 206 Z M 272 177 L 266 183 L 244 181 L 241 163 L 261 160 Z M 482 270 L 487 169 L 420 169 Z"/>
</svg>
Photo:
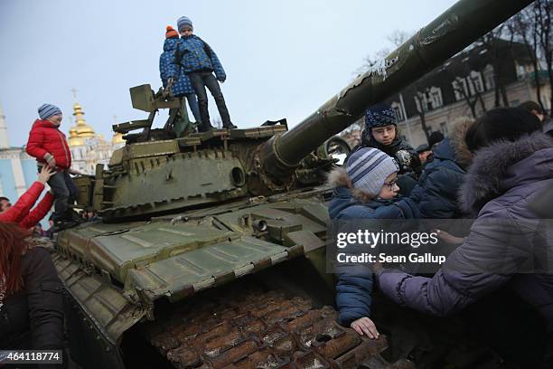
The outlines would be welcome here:
<svg viewBox="0 0 553 369">
<path fill-rule="evenodd" d="M 365 111 L 365 129 L 359 147 L 378 148 L 398 161 L 401 194 L 408 195 L 417 184 L 421 171 L 417 151 L 399 137 L 396 114 L 388 104 L 376 104 Z"/>
</svg>

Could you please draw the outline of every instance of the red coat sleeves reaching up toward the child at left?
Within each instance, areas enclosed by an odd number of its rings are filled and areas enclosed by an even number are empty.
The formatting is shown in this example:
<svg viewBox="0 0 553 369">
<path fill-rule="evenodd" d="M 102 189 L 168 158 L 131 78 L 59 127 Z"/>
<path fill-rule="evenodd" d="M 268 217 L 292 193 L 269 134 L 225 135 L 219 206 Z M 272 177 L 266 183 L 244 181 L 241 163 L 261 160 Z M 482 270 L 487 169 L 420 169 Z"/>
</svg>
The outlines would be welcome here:
<svg viewBox="0 0 553 369">
<path fill-rule="evenodd" d="M 24 229 L 34 227 L 48 213 L 54 200 L 53 194 L 48 193 L 36 205 L 33 211 L 30 212 L 43 189 L 44 185 L 40 182 L 33 183 L 27 192 L 21 195 L 14 206 L 0 214 L 0 222 L 16 222 Z"/>
</svg>

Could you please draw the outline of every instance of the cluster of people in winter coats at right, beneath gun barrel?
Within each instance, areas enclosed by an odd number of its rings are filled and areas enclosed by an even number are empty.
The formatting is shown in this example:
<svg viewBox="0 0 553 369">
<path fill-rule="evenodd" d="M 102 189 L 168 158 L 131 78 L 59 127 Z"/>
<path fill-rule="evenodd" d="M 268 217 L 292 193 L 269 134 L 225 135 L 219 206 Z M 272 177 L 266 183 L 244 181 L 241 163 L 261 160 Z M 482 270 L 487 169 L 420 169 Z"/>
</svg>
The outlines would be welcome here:
<svg viewBox="0 0 553 369">
<path fill-rule="evenodd" d="M 433 276 L 380 262 L 339 273 L 342 325 L 362 336 L 379 336 L 370 319 L 373 289 L 398 306 L 436 317 L 455 315 L 493 291 L 511 289 L 539 314 L 548 334 L 553 332 L 551 226 L 535 226 L 531 221 L 539 216 L 530 206 L 553 186 L 553 138 L 544 118 L 532 102 L 492 109 L 477 119 L 458 118 L 449 137 L 415 151 L 399 136 L 389 106 L 367 109 L 361 145 L 345 168 L 329 175 L 331 219 L 470 218 L 473 225 L 460 237 L 442 235 L 457 245 Z M 524 251 L 509 249 L 515 239 L 523 240 Z M 522 270 L 529 261 L 534 269 Z"/>
</svg>

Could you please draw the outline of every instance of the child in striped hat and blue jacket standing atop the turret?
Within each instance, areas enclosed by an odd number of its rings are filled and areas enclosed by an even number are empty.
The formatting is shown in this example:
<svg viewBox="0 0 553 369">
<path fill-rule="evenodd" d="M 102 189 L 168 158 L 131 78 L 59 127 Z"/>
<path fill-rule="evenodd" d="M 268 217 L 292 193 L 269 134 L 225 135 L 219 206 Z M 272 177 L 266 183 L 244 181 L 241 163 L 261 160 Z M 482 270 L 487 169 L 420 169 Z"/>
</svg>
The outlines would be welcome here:
<svg viewBox="0 0 553 369">
<path fill-rule="evenodd" d="M 206 87 L 211 91 L 211 95 L 215 99 L 223 128 L 237 128 L 230 121 L 229 109 L 227 109 L 227 104 L 220 90 L 219 82 L 223 83 L 227 79 L 227 75 L 223 70 L 219 58 L 213 52 L 210 45 L 193 34 L 192 21 L 189 18 L 186 16 L 179 18 L 177 20 L 177 28 L 181 34 L 181 42 L 178 43 L 178 47 L 174 52 L 172 78 L 173 80 L 178 78 L 177 71 L 185 73 L 190 78 L 192 88 L 198 96 L 198 105 L 200 106 L 202 123 L 199 126 L 199 130 L 206 132 L 214 128 L 210 123 Z M 215 72 L 215 75 L 213 75 L 213 72 Z"/>
</svg>

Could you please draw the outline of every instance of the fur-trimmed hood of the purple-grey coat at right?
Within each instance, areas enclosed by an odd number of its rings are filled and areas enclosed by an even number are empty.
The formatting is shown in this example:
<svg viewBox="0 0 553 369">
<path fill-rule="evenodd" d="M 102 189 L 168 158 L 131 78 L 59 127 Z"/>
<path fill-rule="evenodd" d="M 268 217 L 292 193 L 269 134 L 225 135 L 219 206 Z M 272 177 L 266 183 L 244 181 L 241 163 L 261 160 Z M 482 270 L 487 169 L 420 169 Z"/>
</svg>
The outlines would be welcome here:
<svg viewBox="0 0 553 369">
<path fill-rule="evenodd" d="M 514 187 L 553 177 L 553 138 L 542 132 L 480 149 L 465 176 L 461 205 L 478 213 L 483 205 Z"/>
</svg>

